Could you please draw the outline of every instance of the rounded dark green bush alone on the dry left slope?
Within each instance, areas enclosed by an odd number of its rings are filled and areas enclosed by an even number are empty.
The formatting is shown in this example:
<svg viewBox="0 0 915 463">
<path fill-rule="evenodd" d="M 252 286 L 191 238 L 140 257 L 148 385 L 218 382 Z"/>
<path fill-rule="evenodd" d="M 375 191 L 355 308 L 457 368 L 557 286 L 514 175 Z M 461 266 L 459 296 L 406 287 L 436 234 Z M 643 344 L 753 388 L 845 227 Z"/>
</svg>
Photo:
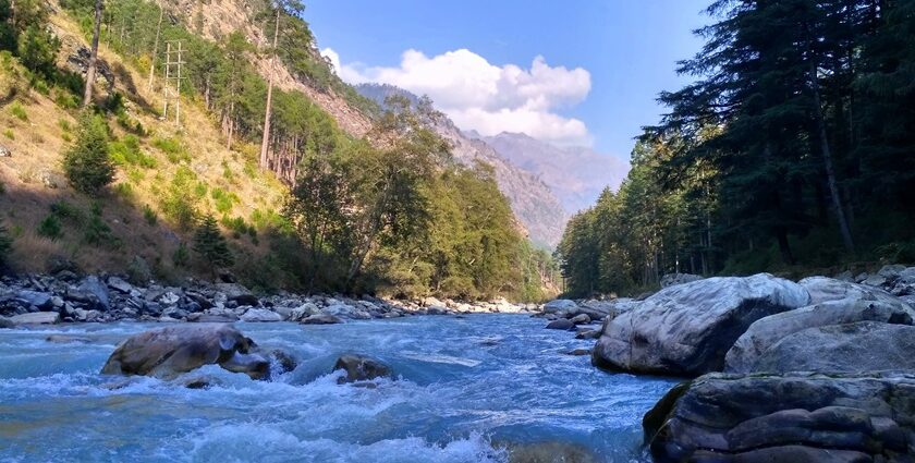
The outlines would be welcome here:
<svg viewBox="0 0 915 463">
<path fill-rule="evenodd" d="M 80 119 L 76 144 L 63 155 L 63 171 L 70 184 L 85 194 L 97 194 L 114 180 L 108 155 L 108 125 L 98 115 Z"/>
</svg>

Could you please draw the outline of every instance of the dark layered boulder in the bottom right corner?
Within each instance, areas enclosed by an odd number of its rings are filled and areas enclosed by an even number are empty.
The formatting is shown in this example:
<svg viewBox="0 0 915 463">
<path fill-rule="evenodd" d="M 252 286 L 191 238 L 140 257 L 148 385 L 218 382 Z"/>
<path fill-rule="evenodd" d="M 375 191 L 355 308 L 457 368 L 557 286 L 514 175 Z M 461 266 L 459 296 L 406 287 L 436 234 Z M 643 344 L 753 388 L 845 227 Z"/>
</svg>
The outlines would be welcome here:
<svg viewBox="0 0 915 463">
<path fill-rule="evenodd" d="M 911 462 L 915 376 L 709 374 L 643 419 L 657 463 Z"/>
</svg>

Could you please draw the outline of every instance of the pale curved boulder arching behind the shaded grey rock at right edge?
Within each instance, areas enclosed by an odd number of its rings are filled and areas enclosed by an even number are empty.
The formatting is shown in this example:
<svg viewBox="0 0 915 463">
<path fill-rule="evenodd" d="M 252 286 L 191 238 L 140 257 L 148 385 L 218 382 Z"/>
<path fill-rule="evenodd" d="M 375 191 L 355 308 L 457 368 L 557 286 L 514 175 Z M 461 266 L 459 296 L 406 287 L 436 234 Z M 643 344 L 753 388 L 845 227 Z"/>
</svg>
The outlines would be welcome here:
<svg viewBox="0 0 915 463">
<path fill-rule="evenodd" d="M 899 300 L 844 298 L 828 301 L 760 318 L 737 339 L 725 356 L 725 371 L 765 371 L 760 361 L 781 340 L 810 328 L 877 321 L 912 325 L 915 310 Z M 813 332 L 810 332 L 813 334 Z M 806 352 L 806 350 L 805 350 Z M 915 353 L 913 353 L 915 354 Z M 778 354 L 773 354 L 778 355 Z M 864 365 L 861 365 L 864 367 Z M 777 371 L 782 371 L 779 368 Z"/>
</svg>

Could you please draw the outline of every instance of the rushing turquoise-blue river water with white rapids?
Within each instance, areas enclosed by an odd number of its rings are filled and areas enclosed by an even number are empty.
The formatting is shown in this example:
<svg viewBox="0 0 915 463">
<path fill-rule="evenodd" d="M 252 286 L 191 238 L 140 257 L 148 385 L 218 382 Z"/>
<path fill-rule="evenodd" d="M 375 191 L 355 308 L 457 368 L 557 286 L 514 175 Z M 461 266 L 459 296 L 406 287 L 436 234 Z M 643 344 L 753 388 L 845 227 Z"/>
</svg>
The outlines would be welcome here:
<svg viewBox="0 0 915 463">
<path fill-rule="evenodd" d="M 267 382 L 208 366 L 219 385 L 205 390 L 124 386 L 98 370 L 156 325 L 0 330 L 0 462 L 499 462 L 504 442 L 541 441 L 644 461 L 642 416 L 673 383 L 599 371 L 561 353 L 594 341 L 523 315 L 236 326 L 298 367 Z M 90 342 L 45 340 L 57 333 Z M 399 379 L 338 386 L 329 370 L 346 352 Z"/>
</svg>

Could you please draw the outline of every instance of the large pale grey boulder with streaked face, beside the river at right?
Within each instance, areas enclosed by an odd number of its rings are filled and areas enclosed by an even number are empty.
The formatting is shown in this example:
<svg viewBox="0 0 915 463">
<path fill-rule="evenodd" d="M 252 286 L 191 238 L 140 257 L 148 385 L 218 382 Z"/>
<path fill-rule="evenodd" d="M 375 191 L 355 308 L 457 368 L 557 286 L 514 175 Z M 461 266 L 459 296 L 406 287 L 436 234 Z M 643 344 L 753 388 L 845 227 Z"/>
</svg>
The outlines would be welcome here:
<svg viewBox="0 0 915 463">
<path fill-rule="evenodd" d="M 673 376 L 718 371 L 754 321 L 803 307 L 809 298 L 800 284 L 768 273 L 670 287 L 607 322 L 593 363 L 610 370 Z"/>
</svg>

